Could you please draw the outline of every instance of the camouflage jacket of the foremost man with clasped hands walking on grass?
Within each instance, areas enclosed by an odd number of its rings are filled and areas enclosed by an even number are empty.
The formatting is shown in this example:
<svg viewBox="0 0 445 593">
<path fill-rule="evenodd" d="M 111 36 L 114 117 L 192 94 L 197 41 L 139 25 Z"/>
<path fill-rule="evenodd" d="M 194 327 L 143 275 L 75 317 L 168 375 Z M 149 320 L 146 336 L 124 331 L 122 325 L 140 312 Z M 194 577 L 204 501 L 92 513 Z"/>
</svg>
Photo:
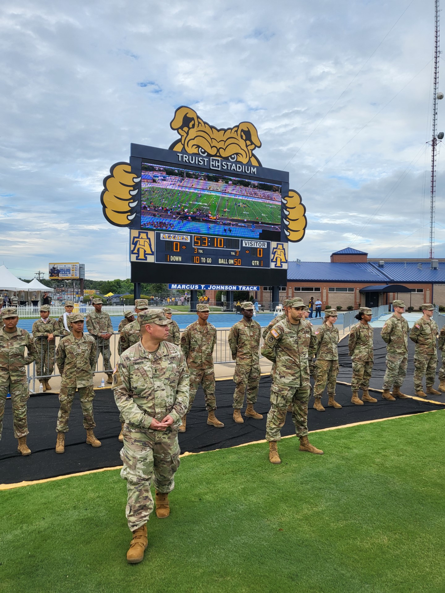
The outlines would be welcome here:
<svg viewBox="0 0 445 593">
<path fill-rule="evenodd" d="M 154 354 L 138 342 L 120 356 L 113 372 L 113 391 L 125 422 L 148 429 L 153 418 L 160 421 L 169 414 L 176 432 L 189 405 L 185 356 L 167 340 Z"/>
</svg>

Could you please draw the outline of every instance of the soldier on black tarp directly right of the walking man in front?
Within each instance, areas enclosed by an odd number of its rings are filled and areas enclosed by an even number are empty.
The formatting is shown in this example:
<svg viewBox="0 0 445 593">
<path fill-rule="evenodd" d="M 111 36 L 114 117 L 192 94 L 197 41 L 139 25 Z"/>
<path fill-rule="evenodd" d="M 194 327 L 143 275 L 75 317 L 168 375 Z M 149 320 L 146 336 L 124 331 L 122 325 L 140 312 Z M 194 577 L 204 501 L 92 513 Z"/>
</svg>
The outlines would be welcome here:
<svg viewBox="0 0 445 593">
<path fill-rule="evenodd" d="M 189 408 L 192 408 L 195 401 L 196 391 L 199 384 L 202 384 L 205 397 L 205 409 L 208 412 L 207 424 L 222 428 L 224 424 L 215 416 L 217 400 L 215 398 L 215 369 L 213 366 L 213 350 L 217 343 L 217 329 L 211 323 L 207 323 L 209 316 L 209 305 L 196 305 L 198 320 L 191 323 L 183 331 L 181 337 L 181 349 L 186 357 L 187 366 L 190 372 L 190 393 Z M 179 432 L 186 430 L 186 414 L 182 419 Z"/>
</svg>

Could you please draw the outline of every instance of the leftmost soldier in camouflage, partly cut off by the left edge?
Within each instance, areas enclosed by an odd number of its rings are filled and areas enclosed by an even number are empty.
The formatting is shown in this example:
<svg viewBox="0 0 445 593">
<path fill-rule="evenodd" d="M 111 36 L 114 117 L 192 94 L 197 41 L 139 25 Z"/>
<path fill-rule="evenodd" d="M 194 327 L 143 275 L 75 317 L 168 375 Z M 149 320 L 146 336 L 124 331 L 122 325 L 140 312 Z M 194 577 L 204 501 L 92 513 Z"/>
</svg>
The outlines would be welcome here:
<svg viewBox="0 0 445 593">
<path fill-rule="evenodd" d="M 8 391 L 11 394 L 14 436 L 18 439 L 17 451 L 30 455 L 26 444 L 28 431 L 26 403 L 29 398 L 25 365 L 37 360 L 38 352 L 34 338 L 26 330 L 17 327 L 17 309 L 2 310 L 4 327 L 0 328 L 0 439 Z M 25 356 L 25 346 L 28 355 Z"/>
</svg>

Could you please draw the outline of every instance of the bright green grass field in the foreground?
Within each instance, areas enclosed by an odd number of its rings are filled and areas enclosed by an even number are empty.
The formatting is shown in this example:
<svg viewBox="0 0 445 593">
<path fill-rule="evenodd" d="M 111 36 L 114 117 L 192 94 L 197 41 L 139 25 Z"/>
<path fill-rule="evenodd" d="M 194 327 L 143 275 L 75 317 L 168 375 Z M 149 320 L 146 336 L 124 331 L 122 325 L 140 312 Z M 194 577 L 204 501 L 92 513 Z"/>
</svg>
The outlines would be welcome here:
<svg viewBox="0 0 445 593">
<path fill-rule="evenodd" d="M 128 565 L 118 471 L 0 492 L 0 591 L 445 590 L 445 411 L 182 459 Z M 20 458 L 17 459 L 20 463 Z"/>
</svg>

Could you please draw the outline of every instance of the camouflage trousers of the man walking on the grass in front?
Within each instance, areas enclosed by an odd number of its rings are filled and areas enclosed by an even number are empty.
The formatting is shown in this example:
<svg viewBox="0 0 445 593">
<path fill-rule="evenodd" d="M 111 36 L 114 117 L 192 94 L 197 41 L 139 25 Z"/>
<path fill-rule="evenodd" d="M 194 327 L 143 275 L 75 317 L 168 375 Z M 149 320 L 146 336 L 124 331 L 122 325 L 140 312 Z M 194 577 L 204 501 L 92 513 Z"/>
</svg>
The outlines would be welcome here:
<svg viewBox="0 0 445 593">
<path fill-rule="evenodd" d="M 123 448 L 120 450 L 123 462 L 120 477 L 127 481 L 125 515 L 131 531 L 145 525 L 150 518 L 153 510 L 151 482 L 156 492 L 173 490 L 179 454 L 177 432 L 151 431 L 125 425 Z"/>
</svg>

